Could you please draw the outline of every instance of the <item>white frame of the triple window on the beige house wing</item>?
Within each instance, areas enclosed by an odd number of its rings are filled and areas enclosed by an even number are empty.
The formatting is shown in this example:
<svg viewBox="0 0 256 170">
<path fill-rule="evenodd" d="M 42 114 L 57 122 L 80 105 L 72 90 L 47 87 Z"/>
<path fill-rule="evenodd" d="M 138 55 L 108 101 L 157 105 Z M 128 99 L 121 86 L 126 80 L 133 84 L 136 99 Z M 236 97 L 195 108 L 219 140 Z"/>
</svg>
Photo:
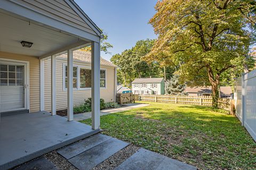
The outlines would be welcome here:
<svg viewBox="0 0 256 170">
<path fill-rule="evenodd" d="M 67 91 L 67 88 L 65 88 L 65 72 L 66 72 L 66 63 L 63 63 L 63 75 L 62 75 L 62 86 L 63 86 L 63 91 Z M 87 69 L 87 70 L 92 70 L 90 66 L 84 66 L 84 65 L 78 65 L 78 64 L 73 64 L 73 67 L 77 67 L 77 88 L 73 88 L 73 90 L 91 90 L 91 87 L 88 88 L 80 88 L 80 69 Z M 107 69 L 100 69 L 105 71 L 105 87 L 100 87 L 100 89 L 107 89 Z"/>
</svg>

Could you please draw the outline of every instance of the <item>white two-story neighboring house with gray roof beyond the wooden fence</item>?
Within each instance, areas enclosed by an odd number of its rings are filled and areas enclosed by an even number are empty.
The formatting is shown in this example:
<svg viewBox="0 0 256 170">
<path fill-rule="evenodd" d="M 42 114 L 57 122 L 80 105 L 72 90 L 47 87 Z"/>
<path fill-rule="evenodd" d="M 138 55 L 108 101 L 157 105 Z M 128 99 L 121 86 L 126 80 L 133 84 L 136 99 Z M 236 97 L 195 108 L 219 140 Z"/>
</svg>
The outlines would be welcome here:
<svg viewBox="0 0 256 170">
<path fill-rule="evenodd" d="M 140 95 L 164 95 L 163 78 L 143 78 L 135 79 L 132 82 L 133 94 Z"/>
</svg>

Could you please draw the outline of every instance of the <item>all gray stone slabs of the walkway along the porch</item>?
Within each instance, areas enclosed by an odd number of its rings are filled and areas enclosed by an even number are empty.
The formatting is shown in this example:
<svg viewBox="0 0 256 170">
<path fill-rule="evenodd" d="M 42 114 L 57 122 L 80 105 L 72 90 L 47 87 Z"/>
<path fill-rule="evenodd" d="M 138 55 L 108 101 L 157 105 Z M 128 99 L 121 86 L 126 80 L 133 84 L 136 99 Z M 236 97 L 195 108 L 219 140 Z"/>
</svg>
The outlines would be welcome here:
<svg viewBox="0 0 256 170">
<path fill-rule="evenodd" d="M 129 143 L 99 133 L 58 149 L 57 152 L 79 170 L 84 170 L 92 169 L 128 145 Z M 56 168 L 51 162 L 46 160 L 44 157 L 41 157 L 39 159 L 32 160 L 27 164 L 21 165 L 19 169 Z M 197 168 L 179 162 L 178 160 L 157 154 L 156 152 L 141 148 L 131 157 L 124 160 L 123 163 L 119 164 L 116 169 L 196 170 Z"/>
</svg>

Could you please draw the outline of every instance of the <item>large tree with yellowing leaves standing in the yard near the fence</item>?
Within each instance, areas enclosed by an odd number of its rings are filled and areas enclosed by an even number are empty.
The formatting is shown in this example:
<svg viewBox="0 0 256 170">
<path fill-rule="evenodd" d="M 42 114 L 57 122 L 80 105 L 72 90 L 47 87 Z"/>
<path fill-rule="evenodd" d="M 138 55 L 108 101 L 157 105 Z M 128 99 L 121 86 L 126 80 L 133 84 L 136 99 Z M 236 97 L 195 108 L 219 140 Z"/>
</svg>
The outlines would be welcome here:
<svg viewBox="0 0 256 170">
<path fill-rule="evenodd" d="M 179 65 L 189 86 L 210 84 L 218 106 L 222 74 L 246 65 L 255 42 L 253 0 L 162 0 L 150 19 L 158 39 L 148 61 Z"/>
</svg>

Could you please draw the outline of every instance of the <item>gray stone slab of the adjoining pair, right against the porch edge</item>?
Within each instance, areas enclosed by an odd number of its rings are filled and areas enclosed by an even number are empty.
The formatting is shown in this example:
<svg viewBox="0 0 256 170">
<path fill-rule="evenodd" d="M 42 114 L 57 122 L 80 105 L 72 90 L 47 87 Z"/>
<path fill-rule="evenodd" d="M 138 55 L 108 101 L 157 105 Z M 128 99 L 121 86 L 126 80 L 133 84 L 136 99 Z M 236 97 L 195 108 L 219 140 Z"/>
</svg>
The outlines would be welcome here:
<svg viewBox="0 0 256 170">
<path fill-rule="evenodd" d="M 111 137 L 99 133 L 99 134 L 93 135 L 92 137 L 86 138 L 82 141 L 79 141 L 71 145 L 68 145 L 66 147 L 63 147 L 61 149 L 58 149 L 57 152 L 61 156 L 65 157 L 66 159 L 70 159 L 109 139 L 111 139 Z"/>
</svg>

